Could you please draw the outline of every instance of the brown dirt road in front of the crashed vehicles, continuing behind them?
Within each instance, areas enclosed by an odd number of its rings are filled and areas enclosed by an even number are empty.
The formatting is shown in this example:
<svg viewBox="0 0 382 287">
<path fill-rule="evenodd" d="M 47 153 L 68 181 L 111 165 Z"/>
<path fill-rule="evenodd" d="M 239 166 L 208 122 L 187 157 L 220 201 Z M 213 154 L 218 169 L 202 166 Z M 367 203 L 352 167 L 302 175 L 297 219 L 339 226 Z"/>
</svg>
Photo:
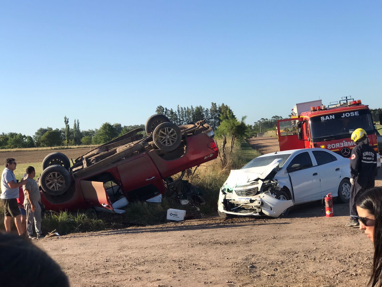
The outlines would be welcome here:
<svg viewBox="0 0 382 287">
<path fill-rule="evenodd" d="M 251 143 L 270 150 L 272 140 L 262 140 Z M 312 202 L 287 218 L 213 217 L 36 244 L 78 287 L 363 286 L 372 243 L 344 227 L 347 204 L 335 203 L 334 210 L 335 217 L 324 217 L 321 203 Z"/>
</svg>

